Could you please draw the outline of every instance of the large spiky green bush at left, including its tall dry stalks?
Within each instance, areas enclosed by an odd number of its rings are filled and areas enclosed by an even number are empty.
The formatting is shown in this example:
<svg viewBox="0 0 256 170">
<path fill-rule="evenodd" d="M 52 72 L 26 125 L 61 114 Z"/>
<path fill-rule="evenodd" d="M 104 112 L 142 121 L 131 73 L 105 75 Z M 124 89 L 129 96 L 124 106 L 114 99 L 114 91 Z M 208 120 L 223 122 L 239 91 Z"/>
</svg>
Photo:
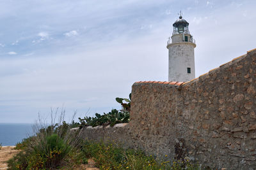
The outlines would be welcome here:
<svg viewBox="0 0 256 170">
<path fill-rule="evenodd" d="M 86 162 L 78 150 L 81 135 L 71 132 L 70 127 L 65 121 L 49 126 L 35 124 L 36 135 L 17 143 L 15 148 L 22 151 L 8 160 L 8 168 L 72 169 L 72 166 Z"/>
</svg>

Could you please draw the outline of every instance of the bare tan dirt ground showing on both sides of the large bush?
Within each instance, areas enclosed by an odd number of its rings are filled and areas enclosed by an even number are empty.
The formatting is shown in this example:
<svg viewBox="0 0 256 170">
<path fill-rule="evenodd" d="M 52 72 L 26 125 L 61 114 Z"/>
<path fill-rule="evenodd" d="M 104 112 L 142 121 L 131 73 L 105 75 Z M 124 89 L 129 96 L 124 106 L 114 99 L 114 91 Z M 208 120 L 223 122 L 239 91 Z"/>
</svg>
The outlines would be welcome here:
<svg viewBox="0 0 256 170">
<path fill-rule="evenodd" d="M 3 146 L 0 150 L 0 170 L 7 169 L 6 161 L 11 159 L 14 155 L 16 155 L 20 150 L 14 150 L 15 146 Z M 99 168 L 95 167 L 95 162 L 93 159 L 88 160 L 88 164 L 80 165 L 75 169 L 86 169 L 86 170 L 99 170 Z"/>
</svg>

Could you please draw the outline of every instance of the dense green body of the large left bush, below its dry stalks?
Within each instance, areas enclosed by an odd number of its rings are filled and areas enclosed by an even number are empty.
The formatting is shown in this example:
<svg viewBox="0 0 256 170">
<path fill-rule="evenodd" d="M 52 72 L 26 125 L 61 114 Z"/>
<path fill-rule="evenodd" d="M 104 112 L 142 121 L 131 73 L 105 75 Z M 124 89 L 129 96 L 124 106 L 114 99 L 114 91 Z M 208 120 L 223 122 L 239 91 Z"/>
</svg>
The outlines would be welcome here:
<svg viewBox="0 0 256 170">
<path fill-rule="evenodd" d="M 8 161 L 9 169 L 59 169 L 73 162 L 79 163 L 77 159 L 81 159 L 81 153 L 74 145 L 67 143 L 58 134 L 44 136 L 40 133 L 24 141 L 24 144 L 16 147 L 22 148 L 22 152 Z"/>
</svg>

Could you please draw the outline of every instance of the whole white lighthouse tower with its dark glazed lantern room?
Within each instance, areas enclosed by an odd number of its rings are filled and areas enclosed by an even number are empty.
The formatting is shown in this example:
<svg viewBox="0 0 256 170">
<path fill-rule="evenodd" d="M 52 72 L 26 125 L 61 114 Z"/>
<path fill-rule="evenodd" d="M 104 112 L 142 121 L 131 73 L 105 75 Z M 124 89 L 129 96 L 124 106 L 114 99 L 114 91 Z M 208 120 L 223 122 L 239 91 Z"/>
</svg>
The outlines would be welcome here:
<svg viewBox="0 0 256 170">
<path fill-rule="evenodd" d="M 195 39 L 191 36 L 189 23 L 181 16 L 173 24 L 171 39 L 167 42 L 169 50 L 168 81 L 190 81 L 195 78 Z"/>
</svg>

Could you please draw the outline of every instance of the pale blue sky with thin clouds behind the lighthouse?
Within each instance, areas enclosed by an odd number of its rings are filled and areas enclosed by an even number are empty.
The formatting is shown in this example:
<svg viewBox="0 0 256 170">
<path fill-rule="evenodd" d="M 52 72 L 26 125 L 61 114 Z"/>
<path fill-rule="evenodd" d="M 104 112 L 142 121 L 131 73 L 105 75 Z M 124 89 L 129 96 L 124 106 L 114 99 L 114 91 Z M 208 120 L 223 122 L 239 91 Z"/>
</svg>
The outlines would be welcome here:
<svg viewBox="0 0 256 170">
<path fill-rule="evenodd" d="M 196 41 L 196 77 L 256 48 L 256 1 L 6 0 L 0 3 L 0 123 L 120 109 L 135 81 L 168 81 L 179 18 Z"/>
</svg>

